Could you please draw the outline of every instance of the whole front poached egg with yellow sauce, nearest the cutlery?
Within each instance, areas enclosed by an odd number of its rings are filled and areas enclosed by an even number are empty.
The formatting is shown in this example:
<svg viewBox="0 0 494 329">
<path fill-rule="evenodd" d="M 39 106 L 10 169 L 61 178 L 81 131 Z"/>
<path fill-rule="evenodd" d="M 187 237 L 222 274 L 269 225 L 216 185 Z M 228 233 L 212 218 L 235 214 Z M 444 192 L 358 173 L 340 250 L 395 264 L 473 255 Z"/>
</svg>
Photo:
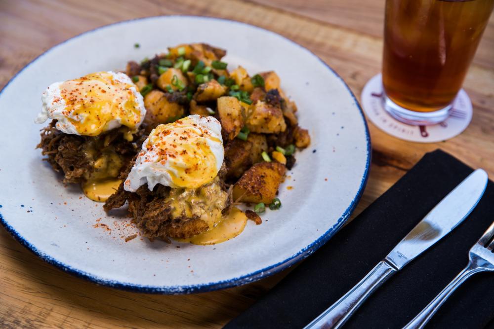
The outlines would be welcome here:
<svg viewBox="0 0 494 329">
<path fill-rule="evenodd" d="M 221 124 L 214 117 L 189 115 L 153 129 L 124 182 L 135 192 L 147 183 L 198 188 L 218 174 L 224 157 Z"/>
</svg>

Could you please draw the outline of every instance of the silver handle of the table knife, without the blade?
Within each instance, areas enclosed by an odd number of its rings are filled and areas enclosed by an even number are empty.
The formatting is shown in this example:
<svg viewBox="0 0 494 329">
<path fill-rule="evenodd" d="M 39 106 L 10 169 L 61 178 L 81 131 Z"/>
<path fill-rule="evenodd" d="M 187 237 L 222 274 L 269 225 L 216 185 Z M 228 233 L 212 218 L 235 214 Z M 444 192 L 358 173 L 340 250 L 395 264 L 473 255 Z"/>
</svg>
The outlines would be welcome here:
<svg viewBox="0 0 494 329">
<path fill-rule="evenodd" d="M 321 313 L 308 328 L 340 328 L 364 300 L 383 284 L 397 269 L 385 260 L 380 261 L 355 287 Z"/>
</svg>

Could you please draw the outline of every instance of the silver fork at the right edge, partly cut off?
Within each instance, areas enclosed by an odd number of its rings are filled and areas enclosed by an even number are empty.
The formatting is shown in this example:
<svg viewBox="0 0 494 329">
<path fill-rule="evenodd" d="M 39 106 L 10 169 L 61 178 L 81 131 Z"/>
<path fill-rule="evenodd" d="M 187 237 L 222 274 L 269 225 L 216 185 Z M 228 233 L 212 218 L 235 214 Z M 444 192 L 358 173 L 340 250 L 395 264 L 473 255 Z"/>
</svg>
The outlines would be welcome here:
<svg viewBox="0 0 494 329">
<path fill-rule="evenodd" d="M 458 288 L 463 282 L 475 273 L 484 271 L 494 271 L 494 241 L 491 241 L 494 236 L 494 222 L 489 226 L 484 235 L 470 249 L 468 254 L 468 265 L 461 271 L 446 288 L 440 292 L 436 298 L 427 305 L 412 321 L 403 329 L 418 329 L 424 328 L 432 316 L 443 305 L 448 297 Z"/>
</svg>

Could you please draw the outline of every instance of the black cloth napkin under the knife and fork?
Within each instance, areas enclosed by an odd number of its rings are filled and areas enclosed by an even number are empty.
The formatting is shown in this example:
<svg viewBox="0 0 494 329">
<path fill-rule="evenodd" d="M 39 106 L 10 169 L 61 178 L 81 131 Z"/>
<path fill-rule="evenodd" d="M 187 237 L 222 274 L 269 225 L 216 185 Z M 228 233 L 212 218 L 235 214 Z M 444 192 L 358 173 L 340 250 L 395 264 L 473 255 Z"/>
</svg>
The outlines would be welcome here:
<svg viewBox="0 0 494 329">
<path fill-rule="evenodd" d="M 302 328 L 358 283 L 472 169 L 441 150 L 402 179 L 225 328 Z M 344 328 L 402 328 L 467 264 L 494 221 L 494 183 L 458 227 L 392 276 Z M 494 319 L 494 273 L 476 274 L 427 328 L 483 328 Z"/>
</svg>

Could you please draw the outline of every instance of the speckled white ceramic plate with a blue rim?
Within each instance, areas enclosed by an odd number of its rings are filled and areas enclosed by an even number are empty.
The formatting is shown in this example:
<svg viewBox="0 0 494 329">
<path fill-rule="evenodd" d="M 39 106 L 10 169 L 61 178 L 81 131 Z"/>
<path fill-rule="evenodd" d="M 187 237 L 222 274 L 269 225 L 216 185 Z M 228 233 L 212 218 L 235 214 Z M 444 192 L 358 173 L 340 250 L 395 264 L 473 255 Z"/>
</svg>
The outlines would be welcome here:
<svg viewBox="0 0 494 329">
<path fill-rule="evenodd" d="M 283 207 L 268 209 L 262 225 L 249 221 L 240 236 L 215 246 L 140 238 L 125 242 L 136 232 L 129 219 L 107 216 L 102 204 L 85 198 L 79 186 L 64 186 L 35 149 L 41 92 L 54 81 L 124 69 L 128 60 L 187 42 L 227 49 L 229 68 L 241 64 L 249 73 L 276 71 L 312 144 L 297 152 L 297 163 L 280 187 Z M 326 243 L 348 219 L 369 173 L 369 132 L 343 80 L 293 41 L 223 19 L 151 17 L 73 37 L 21 70 L 1 91 L 0 109 L 3 226 L 64 271 L 139 292 L 210 291 L 292 265 Z"/>
</svg>

